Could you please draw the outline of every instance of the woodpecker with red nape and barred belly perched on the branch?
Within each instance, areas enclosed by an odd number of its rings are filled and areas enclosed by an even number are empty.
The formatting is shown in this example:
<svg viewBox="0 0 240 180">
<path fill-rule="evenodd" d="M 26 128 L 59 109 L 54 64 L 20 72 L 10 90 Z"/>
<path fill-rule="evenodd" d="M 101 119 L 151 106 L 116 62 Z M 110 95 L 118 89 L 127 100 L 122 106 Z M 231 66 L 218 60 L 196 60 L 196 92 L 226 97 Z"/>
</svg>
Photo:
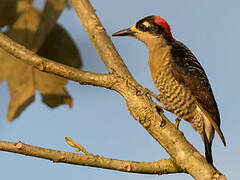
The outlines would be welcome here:
<svg viewBox="0 0 240 180">
<path fill-rule="evenodd" d="M 113 36 L 132 36 L 146 44 L 161 107 L 174 113 L 177 119 L 191 123 L 204 142 L 208 163 L 213 164 L 211 147 L 215 130 L 224 146 L 226 142 L 210 83 L 197 58 L 173 38 L 170 26 L 159 16 L 144 17 Z"/>
</svg>

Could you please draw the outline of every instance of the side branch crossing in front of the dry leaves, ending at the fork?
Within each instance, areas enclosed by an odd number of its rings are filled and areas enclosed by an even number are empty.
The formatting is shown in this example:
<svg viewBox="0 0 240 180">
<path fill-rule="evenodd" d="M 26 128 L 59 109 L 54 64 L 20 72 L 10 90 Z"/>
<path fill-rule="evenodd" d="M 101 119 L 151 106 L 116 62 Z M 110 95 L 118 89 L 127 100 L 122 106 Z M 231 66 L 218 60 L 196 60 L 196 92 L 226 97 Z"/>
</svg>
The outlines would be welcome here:
<svg viewBox="0 0 240 180">
<path fill-rule="evenodd" d="M 111 88 L 114 83 L 111 75 L 86 72 L 42 58 L 11 40 L 3 33 L 0 33 L 0 47 L 40 71 L 55 74 L 81 84 Z"/>
</svg>

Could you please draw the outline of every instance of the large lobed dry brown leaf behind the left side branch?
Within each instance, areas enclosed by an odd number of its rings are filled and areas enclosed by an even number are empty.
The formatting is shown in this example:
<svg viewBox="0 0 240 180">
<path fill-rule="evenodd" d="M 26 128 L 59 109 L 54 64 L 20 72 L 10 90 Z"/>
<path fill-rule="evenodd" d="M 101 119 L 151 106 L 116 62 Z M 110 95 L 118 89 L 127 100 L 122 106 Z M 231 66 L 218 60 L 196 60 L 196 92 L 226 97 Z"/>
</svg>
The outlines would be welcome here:
<svg viewBox="0 0 240 180">
<path fill-rule="evenodd" d="M 31 49 L 30 45 L 39 21 L 40 12 L 29 8 L 17 19 L 7 35 Z M 81 65 L 75 44 L 59 25 L 56 25 L 47 36 L 39 54 L 74 67 Z M 8 120 L 14 120 L 34 100 L 36 89 L 40 91 L 43 102 L 49 107 L 56 107 L 60 104 L 72 106 L 71 96 L 64 88 L 67 83 L 66 79 L 33 69 L 3 50 L 0 51 L 0 64 L 0 80 L 7 79 L 11 95 Z"/>
</svg>

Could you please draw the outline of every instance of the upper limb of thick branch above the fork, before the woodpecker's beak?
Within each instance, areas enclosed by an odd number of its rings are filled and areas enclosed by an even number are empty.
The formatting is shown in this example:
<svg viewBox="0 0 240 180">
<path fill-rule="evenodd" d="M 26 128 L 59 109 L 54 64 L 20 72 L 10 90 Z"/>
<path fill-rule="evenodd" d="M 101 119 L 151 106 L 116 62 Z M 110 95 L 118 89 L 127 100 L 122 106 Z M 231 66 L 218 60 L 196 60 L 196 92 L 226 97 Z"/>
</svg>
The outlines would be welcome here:
<svg viewBox="0 0 240 180">
<path fill-rule="evenodd" d="M 71 0 L 84 29 L 108 71 L 132 78 L 88 0 Z"/>
</svg>

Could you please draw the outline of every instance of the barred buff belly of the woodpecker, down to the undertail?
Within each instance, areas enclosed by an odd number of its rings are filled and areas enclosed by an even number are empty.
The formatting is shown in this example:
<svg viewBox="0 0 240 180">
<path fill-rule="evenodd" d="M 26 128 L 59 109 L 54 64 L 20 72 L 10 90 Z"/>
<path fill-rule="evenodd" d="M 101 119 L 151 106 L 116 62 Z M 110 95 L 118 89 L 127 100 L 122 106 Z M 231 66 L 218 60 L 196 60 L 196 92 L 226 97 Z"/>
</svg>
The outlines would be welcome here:
<svg viewBox="0 0 240 180">
<path fill-rule="evenodd" d="M 188 121 L 194 130 L 198 131 L 204 141 L 203 129 L 209 142 L 214 137 L 213 126 L 201 111 L 190 90 L 179 83 L 171 74 L 171 71 L 164 70 L 158 73 L 154 84 L 161 96 L 161 103 L 167 106 L 178 118 Z"/>
</svg>

